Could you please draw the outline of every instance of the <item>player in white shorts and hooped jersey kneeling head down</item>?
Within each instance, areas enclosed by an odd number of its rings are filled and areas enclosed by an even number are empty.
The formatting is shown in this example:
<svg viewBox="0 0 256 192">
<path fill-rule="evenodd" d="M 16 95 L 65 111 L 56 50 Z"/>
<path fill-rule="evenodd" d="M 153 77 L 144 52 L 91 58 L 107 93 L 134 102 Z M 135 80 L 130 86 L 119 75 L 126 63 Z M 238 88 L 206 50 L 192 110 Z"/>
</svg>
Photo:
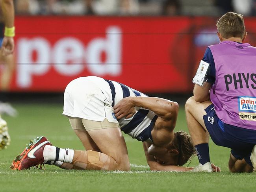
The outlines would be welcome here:
<svg viewBox="0 0 256 192">
<path fill-rule="evenodd" d="M 191 170 L 182 167 L 195 152 L 191 138 L 183 131 L 173 131 L 179 108 L 176 102 L 89 76 L 67 85 L 63 108 L 86 150 L 61 149 L 40 137 L 17 157 L 13 169 L 46 163 L 65 169 L 130 170 L 123 131 L 143 142 L 151 170 Z"/>
</svg>

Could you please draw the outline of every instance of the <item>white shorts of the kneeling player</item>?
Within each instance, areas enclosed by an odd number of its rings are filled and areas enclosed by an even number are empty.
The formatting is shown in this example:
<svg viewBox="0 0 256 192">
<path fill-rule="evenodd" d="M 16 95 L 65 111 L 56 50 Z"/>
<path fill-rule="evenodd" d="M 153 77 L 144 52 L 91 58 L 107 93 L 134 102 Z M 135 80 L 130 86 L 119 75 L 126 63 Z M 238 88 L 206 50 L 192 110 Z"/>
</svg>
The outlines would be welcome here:
<svg viewBox="0 0 256 192">
<path fill-rule="evenodd" d="M 103 92 L 86 78 L 71 81 L 64 92 L 63 114 L 81 119 L 118 123 L 114 109 Z"/>
</svg>

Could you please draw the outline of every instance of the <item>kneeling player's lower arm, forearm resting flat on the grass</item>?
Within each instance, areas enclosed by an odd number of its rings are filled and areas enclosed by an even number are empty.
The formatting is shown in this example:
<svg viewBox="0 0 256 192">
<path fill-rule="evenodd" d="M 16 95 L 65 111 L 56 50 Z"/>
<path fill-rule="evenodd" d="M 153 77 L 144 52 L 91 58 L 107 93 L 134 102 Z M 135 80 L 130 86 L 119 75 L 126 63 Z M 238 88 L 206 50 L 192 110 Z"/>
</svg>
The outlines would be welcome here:
<svg viewBox="0 0 256 192">
<path fill-rule="evenodd" d="M 152 171 L 174 171 L 174 172 L 186 172 L 192 170 L 193 168 L 190 167 L 182 167 L 176 165 L 165 165 L 156 162 L 152 155 L 148 154 L 148 147 L 150 144 L 148 142 L 143 142 L 143 149 L 145 152 L 145 156 L 147 159 L 147 163 L 149 165 L 150 170 Z"/>
</svg>

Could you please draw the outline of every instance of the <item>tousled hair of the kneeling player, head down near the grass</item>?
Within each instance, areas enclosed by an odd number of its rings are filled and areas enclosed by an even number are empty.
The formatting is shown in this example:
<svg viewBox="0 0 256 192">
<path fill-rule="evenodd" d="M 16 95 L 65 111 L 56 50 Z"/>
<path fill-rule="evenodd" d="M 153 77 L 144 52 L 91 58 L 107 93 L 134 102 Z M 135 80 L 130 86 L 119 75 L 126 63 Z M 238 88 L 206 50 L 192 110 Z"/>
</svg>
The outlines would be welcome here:
<svg viewBox="0 0 256 192">
<path fill-rule="evenodd" d="M 174 142 L 173 147 L 179 151 L 177 165 L 182 166 L 195 154 L 195 147 L 188 133 L 177 131 L 174 135 L 176 136 L 176 142 Z"/>
</svg>

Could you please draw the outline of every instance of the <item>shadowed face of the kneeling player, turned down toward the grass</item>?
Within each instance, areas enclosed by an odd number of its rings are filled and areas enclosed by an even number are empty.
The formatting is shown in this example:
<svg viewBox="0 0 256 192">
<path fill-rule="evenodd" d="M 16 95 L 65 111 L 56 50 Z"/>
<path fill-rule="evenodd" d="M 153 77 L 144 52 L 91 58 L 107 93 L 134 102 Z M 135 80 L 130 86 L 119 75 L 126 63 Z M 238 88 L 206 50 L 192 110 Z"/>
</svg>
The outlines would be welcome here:
<svg viewBox="0 0 256 192">
<path fill-rule="evenodd" d="M 177 155 L 167 148 L 160 148 L 152 144 L 148 148 L 148 154 L 153 155 L 154 159 L 160 164 L 177 165 Z"/>
</svg>

